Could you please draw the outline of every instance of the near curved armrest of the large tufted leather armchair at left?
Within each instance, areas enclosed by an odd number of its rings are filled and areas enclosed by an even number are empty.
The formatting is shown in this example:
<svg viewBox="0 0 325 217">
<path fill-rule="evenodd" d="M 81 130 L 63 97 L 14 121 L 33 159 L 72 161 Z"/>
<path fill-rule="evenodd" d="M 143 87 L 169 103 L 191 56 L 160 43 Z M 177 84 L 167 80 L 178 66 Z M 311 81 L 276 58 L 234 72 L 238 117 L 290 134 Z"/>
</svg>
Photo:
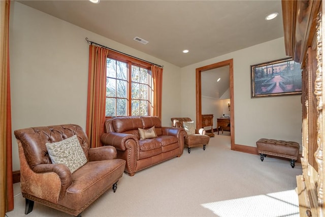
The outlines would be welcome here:
<svg viewBox="0 0 325 217">
<path fill-rule="evenodd" d="M 67 189 L 72 184 L 72 175 L 70 169 L 64 164 L 39 164 L 32 168 L 32 171 L 35 173 L 51 173 L 54 172 L 60 179 L 61 187 L 59 198 L 62 198 L 64 194 L 66 194 Z M 51 180 L 48 180 L 46 183 L 38 183 L 44 184 L 44 186 L 53 184 Z M 55 183 L 55 182 L 54 182 Z"/>
</svg>

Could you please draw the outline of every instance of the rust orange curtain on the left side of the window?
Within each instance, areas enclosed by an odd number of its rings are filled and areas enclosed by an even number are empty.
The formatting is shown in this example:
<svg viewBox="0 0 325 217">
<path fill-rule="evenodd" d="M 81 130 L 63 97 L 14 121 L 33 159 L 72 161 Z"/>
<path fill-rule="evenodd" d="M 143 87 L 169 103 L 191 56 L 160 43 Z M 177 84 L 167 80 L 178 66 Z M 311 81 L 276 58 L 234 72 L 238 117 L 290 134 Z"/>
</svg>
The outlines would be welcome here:
<svg viewBox="0 0 325 217">
<path fill-rule="evenodd" d="M 106 57 L 108 49 L 89 46 L 86 134 L 91 147 L 102 146 L 106 107 Z"/>
</svg>

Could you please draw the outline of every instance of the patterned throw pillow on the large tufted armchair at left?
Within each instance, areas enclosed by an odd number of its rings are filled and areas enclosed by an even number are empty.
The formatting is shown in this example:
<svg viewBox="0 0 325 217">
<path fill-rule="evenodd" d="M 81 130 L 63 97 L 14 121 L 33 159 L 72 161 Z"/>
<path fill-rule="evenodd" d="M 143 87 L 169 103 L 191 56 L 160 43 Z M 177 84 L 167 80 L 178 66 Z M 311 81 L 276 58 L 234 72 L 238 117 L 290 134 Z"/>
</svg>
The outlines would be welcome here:
<svg viewBox="0 0 325 217">
<path fill-rule="evenodd" d="M 82 150 L 77 135 L 59 142 L 47 142 L 45 145 L 52 163 L 65 164 L 70 169 L 71 173 L 87 163 L 87 158 Z"/>
</svg>

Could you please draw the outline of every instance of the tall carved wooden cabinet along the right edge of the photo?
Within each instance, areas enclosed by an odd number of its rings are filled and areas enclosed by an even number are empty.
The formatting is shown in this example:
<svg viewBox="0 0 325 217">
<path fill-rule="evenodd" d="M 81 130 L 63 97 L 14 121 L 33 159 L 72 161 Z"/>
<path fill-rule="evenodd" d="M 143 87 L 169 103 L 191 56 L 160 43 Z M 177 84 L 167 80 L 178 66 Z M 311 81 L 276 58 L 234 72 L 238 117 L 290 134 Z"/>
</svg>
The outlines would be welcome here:
<svg viewBox="0 0 325 217">
<path fill-rule="evenodd" d="M 282 0 L 285 50 L 302 66 L 302 175 L 297 176 L 300 216 L 325 214 L 325 43 L 321 1 Z"/>
</svg>

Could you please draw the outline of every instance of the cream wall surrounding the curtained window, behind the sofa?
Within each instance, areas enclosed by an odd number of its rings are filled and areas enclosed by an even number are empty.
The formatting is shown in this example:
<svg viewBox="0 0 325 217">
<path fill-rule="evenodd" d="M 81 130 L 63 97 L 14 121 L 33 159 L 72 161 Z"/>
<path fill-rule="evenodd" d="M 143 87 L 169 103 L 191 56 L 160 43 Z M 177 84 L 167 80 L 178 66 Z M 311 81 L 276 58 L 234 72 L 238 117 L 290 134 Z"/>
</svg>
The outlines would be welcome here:
<svg viewBox="0 0 325 217">
<path fill-rule="evenodd" d="M 85 38 L 164 65 L 162 124 L 181 115 L 180 68 L 15 1 L 10 12 L 12 130 L 76 123 L 86 126 Z M 13 135 L 13 170 L 19 170 Z"/>
</svg>

